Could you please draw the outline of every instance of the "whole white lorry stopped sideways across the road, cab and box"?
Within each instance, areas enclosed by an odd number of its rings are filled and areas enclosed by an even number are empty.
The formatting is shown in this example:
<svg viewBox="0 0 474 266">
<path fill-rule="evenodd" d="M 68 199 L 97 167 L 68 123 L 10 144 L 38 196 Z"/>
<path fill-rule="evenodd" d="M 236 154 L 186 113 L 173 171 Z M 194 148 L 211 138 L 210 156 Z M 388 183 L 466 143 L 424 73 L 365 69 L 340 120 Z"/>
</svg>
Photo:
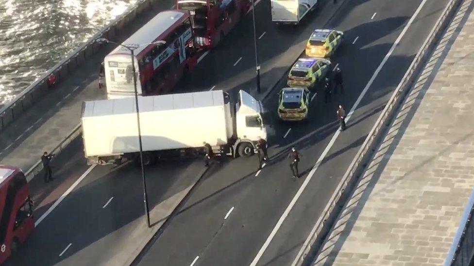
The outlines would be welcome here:
<svg viewBox="0 0 474 266">
<path fill-rule="evenodd" d="M 143 162 L 165 156 L 197 156 L 203 142 L 216 153 L 251 156 L 267 139 L 262 105 L 245 91 L 231 104 L 223 91 L 138 96 Z M 83 103 L 82 129 L 88 164 L 139 159 L 135 97 Z"/>
</svg>

